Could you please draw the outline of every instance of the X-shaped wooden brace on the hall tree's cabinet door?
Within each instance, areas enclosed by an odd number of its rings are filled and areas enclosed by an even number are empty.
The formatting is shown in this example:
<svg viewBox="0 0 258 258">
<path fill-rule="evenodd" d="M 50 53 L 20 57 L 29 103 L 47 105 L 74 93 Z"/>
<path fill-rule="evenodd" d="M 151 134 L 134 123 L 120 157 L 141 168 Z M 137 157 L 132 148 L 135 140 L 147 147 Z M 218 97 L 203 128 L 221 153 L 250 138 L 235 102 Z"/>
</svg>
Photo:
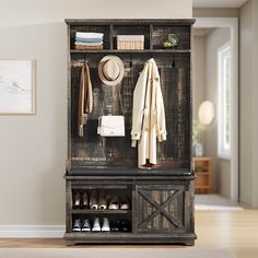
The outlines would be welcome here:
<svg viewBox="0 0 258 258">
<path fill-rule="evenodd" d="M 140 224 L 139 224 L 139 227 L 145 227 L 146 224 L 152 220 L 154 219 L 159 213 L 163 214 L 172 224 L 174 224 L 176 227 L 179 227 L 180 226 L 180 223 L 178 223 L 175 218 L 169 214 L 165 208 L 166 206 L 169 203 L 169 201 L 172 199 L 175 199 L 177 196 L 181 195 L 183 194 L 183 190 L 176 190 L 172 196 L 169 196 L 167 198 L 167 200 L 163 203 L 157 203 L 155 200 L 153 200 L 145 191 L 142 191 L 142 190 L 138 190 L 138 192 L 148 201 L 150 202 L 154 208 L 155 208 L 155 211 L 153 211 L 151 213 L 150 216 L 148 216 L 146 219 L 144 219 Z"/>
</svg>

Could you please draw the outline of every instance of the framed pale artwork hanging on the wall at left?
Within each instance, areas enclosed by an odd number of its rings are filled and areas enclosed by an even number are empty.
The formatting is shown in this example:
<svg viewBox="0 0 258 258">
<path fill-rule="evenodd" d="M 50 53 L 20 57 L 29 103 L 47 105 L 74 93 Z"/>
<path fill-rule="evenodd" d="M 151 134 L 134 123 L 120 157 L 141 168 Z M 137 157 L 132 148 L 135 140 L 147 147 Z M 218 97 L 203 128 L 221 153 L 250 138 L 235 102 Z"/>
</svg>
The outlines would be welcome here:
<svg viewBox="0 0 258 258">
<path fill-rule="evenodd" d="M 35 60 L 0 60 L 0 115 L 35 114 Z"/>
</svg>

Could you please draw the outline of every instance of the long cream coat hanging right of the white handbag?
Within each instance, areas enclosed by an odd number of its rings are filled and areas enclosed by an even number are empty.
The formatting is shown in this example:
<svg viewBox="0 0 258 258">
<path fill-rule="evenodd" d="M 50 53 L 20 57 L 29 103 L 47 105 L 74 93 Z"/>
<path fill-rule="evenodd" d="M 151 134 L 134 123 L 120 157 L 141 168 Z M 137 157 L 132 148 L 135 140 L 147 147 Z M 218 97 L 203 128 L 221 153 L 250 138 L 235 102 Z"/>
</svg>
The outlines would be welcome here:
<svg viewBox="0 0 258 258">
<path fill-rule="evenodd" d="M 160 74 L 154 59 L 145 62 L 133 92 L 132 146 L 138 141 L 138 166 L 156 164 L 156 138 L 166 140 L 166 122 Z"/>
</svg>

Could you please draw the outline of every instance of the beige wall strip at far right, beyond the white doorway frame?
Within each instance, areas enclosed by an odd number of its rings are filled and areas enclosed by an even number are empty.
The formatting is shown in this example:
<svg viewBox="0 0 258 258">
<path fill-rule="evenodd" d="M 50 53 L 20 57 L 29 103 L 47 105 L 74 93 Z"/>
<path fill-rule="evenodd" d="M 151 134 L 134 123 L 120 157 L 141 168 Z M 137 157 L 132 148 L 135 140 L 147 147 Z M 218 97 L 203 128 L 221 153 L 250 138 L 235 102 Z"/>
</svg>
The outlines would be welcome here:
<svg viewBox="0 0 258 258">
<path fill-rule="evenodd" d="M 241 9 L 241 201 L 258 207 L 258 1 Z"/>
</svg>

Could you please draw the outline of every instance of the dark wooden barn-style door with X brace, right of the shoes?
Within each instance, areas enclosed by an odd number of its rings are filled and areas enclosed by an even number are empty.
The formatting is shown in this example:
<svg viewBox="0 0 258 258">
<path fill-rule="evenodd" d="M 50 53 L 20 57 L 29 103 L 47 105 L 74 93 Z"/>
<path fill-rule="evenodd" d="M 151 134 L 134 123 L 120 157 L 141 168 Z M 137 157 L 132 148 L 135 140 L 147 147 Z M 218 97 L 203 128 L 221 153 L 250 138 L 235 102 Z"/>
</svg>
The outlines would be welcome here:
<svg viewBox="0 0 258 258">
<path fill-rule="evenodd" d="M 184 185 L 137 185 L 136 232 L 185 232 Z"/>
</svg>

